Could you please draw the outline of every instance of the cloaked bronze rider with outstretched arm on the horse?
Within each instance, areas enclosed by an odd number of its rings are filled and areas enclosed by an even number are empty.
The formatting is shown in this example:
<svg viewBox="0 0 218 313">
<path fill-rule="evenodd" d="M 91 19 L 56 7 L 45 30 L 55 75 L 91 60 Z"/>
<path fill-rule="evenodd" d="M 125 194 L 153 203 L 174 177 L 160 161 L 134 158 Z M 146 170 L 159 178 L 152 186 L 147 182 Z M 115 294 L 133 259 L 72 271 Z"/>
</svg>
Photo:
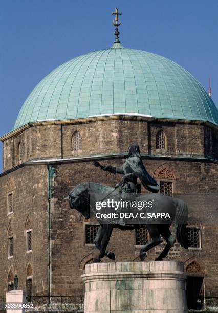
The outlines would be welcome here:
<svg viewBox="0 0 218 313">
<path fill-rule="evenodd" d="M 104 171 L 114 174 L 122 174 L 121 193 L 141 193 L 141 184 L 137 184 L 137 178 L 141 181 L 144 188 L 151 192 L 158 192 L 159 185 L 146 171 L 142 162 L 142 157 L 138 144 L 130 144 L 128 147 L 129 157 L 122 166 L 106 165 L 102 167 Z"/>
</svg>

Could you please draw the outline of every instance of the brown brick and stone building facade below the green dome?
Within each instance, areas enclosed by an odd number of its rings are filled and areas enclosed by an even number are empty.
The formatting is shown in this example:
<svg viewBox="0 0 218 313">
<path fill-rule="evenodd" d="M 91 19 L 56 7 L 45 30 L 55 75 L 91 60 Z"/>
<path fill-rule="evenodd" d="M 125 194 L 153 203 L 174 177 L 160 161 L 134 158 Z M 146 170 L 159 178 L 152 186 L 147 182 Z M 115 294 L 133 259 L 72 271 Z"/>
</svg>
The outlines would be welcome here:
<svg viewBox="0 0 218 313">
<path fill-rule="evenodd" d="M 94 167 L 93 161 L 121 165 L 128 145 L 137 142 L 144 165 L 159 182 L 162 193 L 182 194 L 187 200 L 199 195 L 215 199 L 217 139 L 217 123 L 211 118 L 128 112 L 30 119 L 2 136 L 0 296 L 13 288 L 15 274 L 19 288 L 27 290 L 27 295 L 83 294 L 80 275 L 97 253 L 93 238 L 98 225 L 71 210 L 63 198 L 81 182 L 113 187 L 121 180 L 118 174 Z M 176 243 L 167 257 L 185 263 L 188 297 L 196 301 L 200 296 L 218 295 L 214 249 L 218 224 L 201 220 L 205 210 L 215 210 L 214 203 L 209 206 L 205 208 L 204 200 L 193 201 L 188 223 L 191 247 L 185 250 Z M 109 248 L 118 262 L 139 261 L 141 245 L 148 241 L 146 228 L 116 229 Z M 164 243 L 152 249 L 147 260 L 154 260 L 163 247 Z"/>
</svg>

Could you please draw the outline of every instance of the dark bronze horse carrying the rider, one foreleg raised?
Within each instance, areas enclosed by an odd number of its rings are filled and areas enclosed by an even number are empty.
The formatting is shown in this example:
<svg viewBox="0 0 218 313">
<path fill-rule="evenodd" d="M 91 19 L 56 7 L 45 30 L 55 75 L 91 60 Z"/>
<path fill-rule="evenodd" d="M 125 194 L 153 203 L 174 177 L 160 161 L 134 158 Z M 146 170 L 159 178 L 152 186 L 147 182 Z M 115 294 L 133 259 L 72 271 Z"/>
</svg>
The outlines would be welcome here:
<svg viewBox="0 0 218 313">
<path fill-rule="evenodd" d="M 90 198 L 89 195 L 93 193 L 100 193 L 100 194 L 112 194 L 114 191 L 113 188 L 104 186 L 98 183 L 93 182 L 86 182 L 77 185 L 73 190 L 69 193 L 69 196 L 65 198 L 68 200 L 70 208 L 76 209 L 80 212 L 85 218 L 89 218 L 90 214 Z M 152 194 L 152 198 L 156 199 L 157 201 L 164 200 L 167 203 L 168 208 L 162 208 L 162 212 L 165 210 L 171 210 L 174 212 L 174 217 L 177 215 L 187 214 L 188 207 L 187 204 L 181 200 L 172 197 L 168 197 L 162 194 Z M 95 208 L 92 208 L 95 211 Z M 146 227 L 148 229 L 151 241 L 144 245 L 140 250 L 140 259 L 144 260 L 146 257 L 146 252 L 150 250 L 152 247 L 160 244 L 162 242 L 161 236 L 166 240 L 166 246 L 164 250 L 160 253 L 160 255 L 156 258 L 157 261 L 163 260 L 176 242 L 176 238 L 172 236 L 169 228 L 171 225 L 169 224 L 147 224 Z M 119 223 L 102 223 L 99 226 L 96 238 L 94 240 L 94 244 L 96 248 L 100 250 L 99 255 L 95 258 L 94 262 L 100 262 L 101 258 L 107 256 L 110 259 L 115 260 L 115 255 L 113 252 L 109 252 L 106 250 L 106 247 L 110 241 L 112 231 L 114 228 L 119 228 L 121 230 L 128 230 L 128 229 L 139 229 L 142 225 L 119 225 Z M 176 226 L 176 237 L 177 241 L 180 245 L 188 249 L 188 238 L 186 232 L 186 224 L 181 223 Z"/>
</svg>

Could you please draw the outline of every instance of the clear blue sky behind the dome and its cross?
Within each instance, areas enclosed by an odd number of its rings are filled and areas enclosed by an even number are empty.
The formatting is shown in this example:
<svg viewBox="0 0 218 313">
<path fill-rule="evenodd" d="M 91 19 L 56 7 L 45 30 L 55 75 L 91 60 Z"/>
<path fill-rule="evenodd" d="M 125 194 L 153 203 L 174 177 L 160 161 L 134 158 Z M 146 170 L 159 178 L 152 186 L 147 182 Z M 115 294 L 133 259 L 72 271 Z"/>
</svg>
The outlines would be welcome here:
<svg viewBox="0 0 218 313">
<path fill-rule="evenodd" d="M 218 104 L 217 0 L 1 0 L 0 135 L 13 128 L 28 94 L 51 70 L 111 47 L 115 7 L 123 46 L 179 63 L 206 89 L 210 76 Z"/>
</svg>

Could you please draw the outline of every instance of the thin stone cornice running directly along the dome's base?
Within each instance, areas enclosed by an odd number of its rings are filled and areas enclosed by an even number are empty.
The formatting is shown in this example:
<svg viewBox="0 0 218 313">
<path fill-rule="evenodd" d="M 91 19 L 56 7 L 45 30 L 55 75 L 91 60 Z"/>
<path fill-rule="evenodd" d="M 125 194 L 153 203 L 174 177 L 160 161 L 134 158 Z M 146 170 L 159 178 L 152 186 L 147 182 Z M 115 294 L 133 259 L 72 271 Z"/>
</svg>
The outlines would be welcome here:
<svg viewBox="0 0 218 313">
<path fill-rule="evenodd" d="M 47 125 L 71 125 L 71 124 L 85 124 L 90 122 L 97 121 L 107 121 L 107 120 L 134 120 L 134 121 L 154 121 L 154 122 L 171 122 L 171 123 L 179 123 L 179 124 L 196 124 L 196 125 L 206 125 L 211 128 L 218 128 L 217 125 L 208 122 L 208 121 L 199 121 L 199 120 L 184 120 L 184 119 L 169 119 L 169 118 L 155 118 L 155 117 L 147 117 L 140 115 L 128 115 L 128 114 L 114 114 L 114 115 L 102 115 L 102 116 L 93 116 L 88 118 L 81 119 L 70 119 L 70 120 L 47 120 L 47 121 L 38 121 L 25 124 L 17 129 L 14 129 L 6 135 L 0 137 L 1 141 L 5 141 L 13 136 L 18 135 L 24 130 L 33 127 L 33 126 L 47 126 Z"/>
</svg>

